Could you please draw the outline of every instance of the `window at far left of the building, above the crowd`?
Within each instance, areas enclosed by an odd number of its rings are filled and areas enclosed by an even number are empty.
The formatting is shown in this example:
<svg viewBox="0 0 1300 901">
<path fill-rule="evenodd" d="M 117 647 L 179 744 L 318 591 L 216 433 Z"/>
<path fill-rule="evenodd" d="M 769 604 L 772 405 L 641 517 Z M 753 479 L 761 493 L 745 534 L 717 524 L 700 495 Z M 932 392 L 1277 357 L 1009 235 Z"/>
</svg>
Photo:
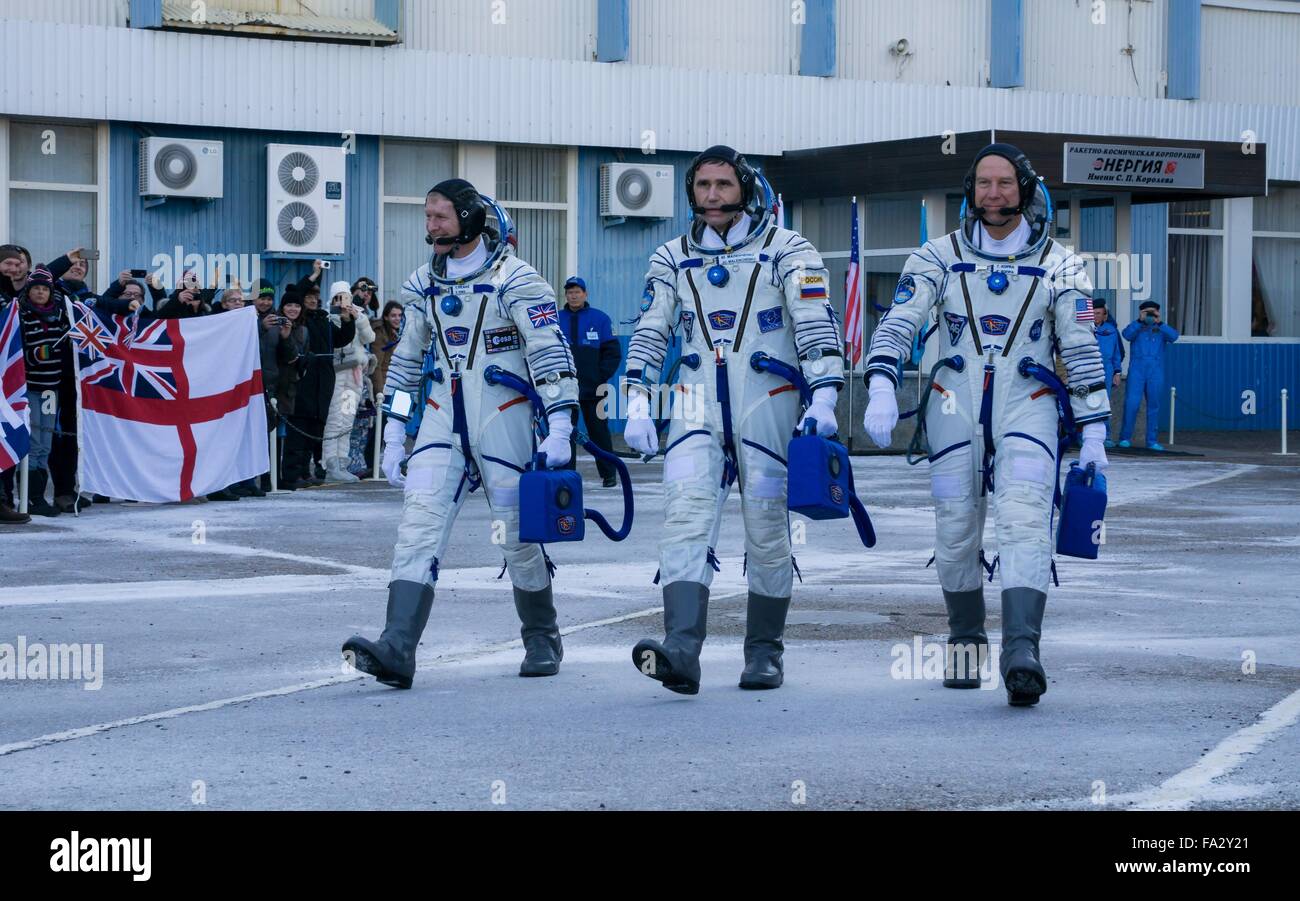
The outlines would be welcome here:
<svg viewBox="0 0 1300 901">
<path fill-rule="evenodd" d="M 9 122 L 9 241 L 32 265 L 96 247 L 99 144 L 94 125 Z M 86 276 L 95 290 L 92 267 Z"/>
</svg>

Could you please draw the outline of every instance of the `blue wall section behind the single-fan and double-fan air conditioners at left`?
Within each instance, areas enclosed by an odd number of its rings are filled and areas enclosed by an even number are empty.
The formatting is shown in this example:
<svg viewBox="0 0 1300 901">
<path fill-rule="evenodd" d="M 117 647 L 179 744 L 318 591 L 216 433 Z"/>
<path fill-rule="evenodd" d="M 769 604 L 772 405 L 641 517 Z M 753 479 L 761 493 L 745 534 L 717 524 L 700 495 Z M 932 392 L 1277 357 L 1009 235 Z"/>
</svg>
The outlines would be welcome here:
<svg viewBox="0 0 1300 901">
<path fill-rule="evenodd" d="M 169 199 L 146 208 L 139 196 L 139 139 L 159 135 L 221 140 L 225 198 Z M 338 146 L 338 135 L 243 131 L 114 122 L 109 138 L 110 270 L 151 268 L 156 254 L 250 254 L 266 248 L 266 144 Z M 347 242 L 326 280 L 378 276 L 378 138 L 358 135 L 347 164 Z M 311 270 L 306 260 L 261 260 L 261 277 L 283 286 Z M 381 286 L 382 287 L 382 286 Z M 326 286 L 328 289 L 328 286 Z"/>
</svg>

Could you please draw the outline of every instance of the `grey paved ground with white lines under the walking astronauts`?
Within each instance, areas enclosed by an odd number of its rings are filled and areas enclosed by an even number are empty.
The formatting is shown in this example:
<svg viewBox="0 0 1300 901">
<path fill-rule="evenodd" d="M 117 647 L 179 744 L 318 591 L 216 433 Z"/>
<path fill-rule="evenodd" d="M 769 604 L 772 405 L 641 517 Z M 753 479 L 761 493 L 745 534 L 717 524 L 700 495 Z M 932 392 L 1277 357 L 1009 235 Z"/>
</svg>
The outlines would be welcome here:
<svg viewBox="0 0 1300 901">
<path fill-rule="evenodd" d="M 480 497 L 410 692 L 339 657 L 348 634 L 382 627 L 394 489 L 114 503 L 9 529 L 0 642 L 104 657 L 99 690 L 0 681 L 0 807 L 1297 809 L 1300 469 L 1261 462 L 1113 458 L 1101 559 L 1058 562 L 1035 709 L 1008 707 L 1000 686 L 896 677 L 914 641 L 945 629 L 928 480 L 897 456 L 854 460 L 875 550 L 846 521 L 807 524 L 776 692 L 736 685 L 734 493 L 701 693 L 633 668 L 632 645 L 662 634 L 659 464 L 633 464 L 627 542 L 550 549 L 555 679 L 516 676 Z M 589 489 L 588 504 L 616 520 L 616 491 Z"/>
</svg>

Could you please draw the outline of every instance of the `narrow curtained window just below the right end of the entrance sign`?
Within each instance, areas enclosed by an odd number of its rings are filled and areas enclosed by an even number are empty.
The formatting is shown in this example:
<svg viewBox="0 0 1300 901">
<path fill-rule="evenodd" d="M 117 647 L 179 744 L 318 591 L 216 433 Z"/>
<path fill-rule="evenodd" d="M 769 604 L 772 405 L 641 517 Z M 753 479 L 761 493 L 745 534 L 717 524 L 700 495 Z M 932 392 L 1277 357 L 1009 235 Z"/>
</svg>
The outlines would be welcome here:
<svg viewBox="0 0 1300 901">
<path fill-rule="evenodd" d="M 1184 335 L 1223 335 L 1223 202 L 1169 204 L 1169 304 Z"/>
</svg>

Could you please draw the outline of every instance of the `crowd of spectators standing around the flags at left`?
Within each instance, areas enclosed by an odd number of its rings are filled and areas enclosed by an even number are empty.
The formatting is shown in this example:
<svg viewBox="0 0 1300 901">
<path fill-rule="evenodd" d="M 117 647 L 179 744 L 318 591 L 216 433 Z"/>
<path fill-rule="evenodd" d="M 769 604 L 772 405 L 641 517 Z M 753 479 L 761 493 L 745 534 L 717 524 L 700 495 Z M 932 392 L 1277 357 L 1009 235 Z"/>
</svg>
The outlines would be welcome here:
<svg viewBox="0 0 1300 901">
<path fill-rule="evenodd" d="M 316 260 L 304 278 L 278 291 L 266 281 L 248 287 L 204 283 L 196 272 L 183 273 L 168 291 L 156 277 L 124 270 L 98 294 L 86 281 L 91 263 L 84 251 L 73 250 L 34 265 L 26 248 L 0 246 L 0 321 L 9 304 L 18 304 L 31 411 L 30 515 L 58 516 L 110 501 L 83 495 L 77 486 L 77 385 L 72 342 L 65 339 L 69 299 L 100 315 L 156 319 L 218 316 L 252 304 L 266 425 L 280 436 L 278 459 L 270 462 L 278 488 L 358 481 L 373 472 L 377 398 L 402 328 L 400 304 L 381 309 L 374 280 L 335 281 L 322 303 L 326 268 Z M 0 478 L 0 524 L 30 521 L 17 510 L 16 473 L 10 468 Z M 270 488 L 268 471 L 195 502 L 264 497 Z"/>
</svg>

